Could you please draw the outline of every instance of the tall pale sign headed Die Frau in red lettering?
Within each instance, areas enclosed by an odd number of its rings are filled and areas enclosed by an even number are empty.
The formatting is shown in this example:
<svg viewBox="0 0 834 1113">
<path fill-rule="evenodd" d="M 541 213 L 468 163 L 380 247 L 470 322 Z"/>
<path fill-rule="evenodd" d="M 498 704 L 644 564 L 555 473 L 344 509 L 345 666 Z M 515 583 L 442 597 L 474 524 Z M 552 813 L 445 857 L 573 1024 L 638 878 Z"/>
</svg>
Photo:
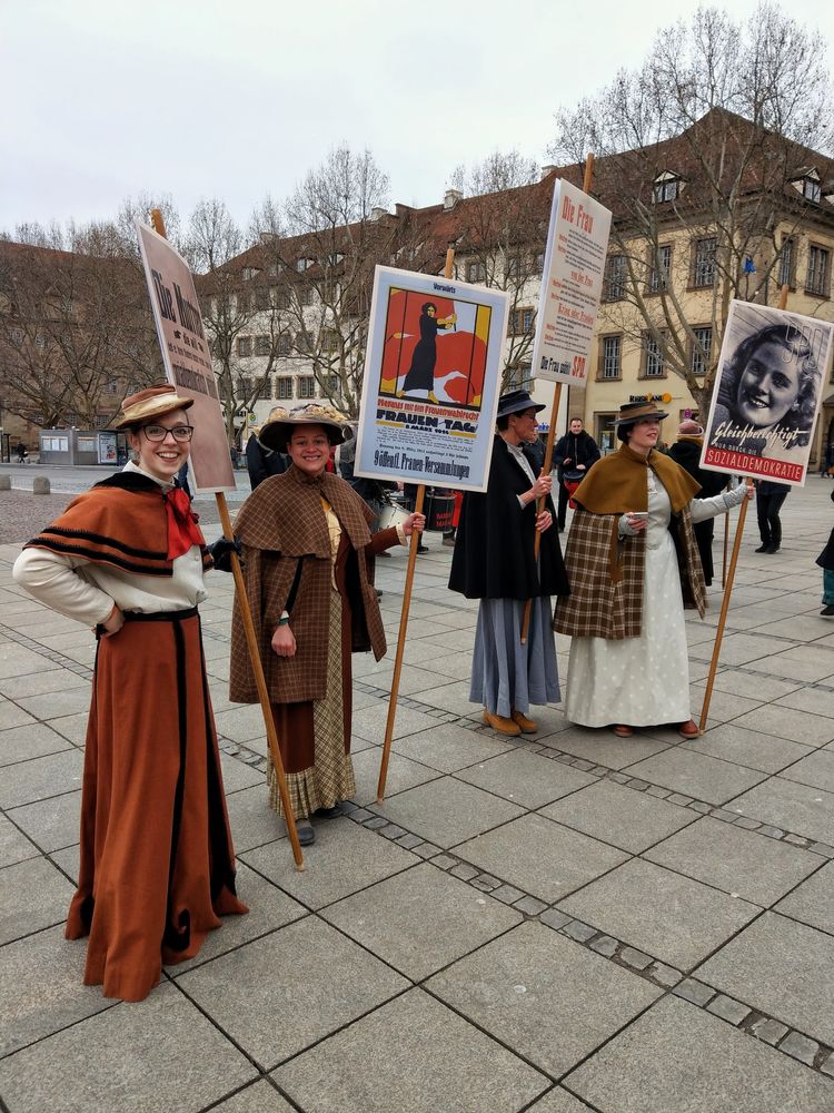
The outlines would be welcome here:
<svg viewBox="0 0 834 1113">
<path fill-rule="evenodd" d="M 533 344 L 533 374 L 585 386 L 603 294 L 610 213 L 564 178 L 556 183 Z"/>
</svg>

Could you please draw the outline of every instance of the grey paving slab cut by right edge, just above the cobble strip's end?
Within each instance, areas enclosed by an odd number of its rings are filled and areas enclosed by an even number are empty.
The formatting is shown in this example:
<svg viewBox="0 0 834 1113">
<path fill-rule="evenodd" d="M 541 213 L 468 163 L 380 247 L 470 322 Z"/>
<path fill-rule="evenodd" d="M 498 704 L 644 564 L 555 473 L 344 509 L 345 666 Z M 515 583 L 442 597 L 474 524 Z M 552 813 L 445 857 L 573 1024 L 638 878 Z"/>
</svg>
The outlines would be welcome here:
<svg viewBox="0 0 834 1113">
<path fill-rule="evenodd" d="M 833 968 L 831 935 L 765 913 L 704 963 L 697 976 L 831 1046 Z"/>
</svg>

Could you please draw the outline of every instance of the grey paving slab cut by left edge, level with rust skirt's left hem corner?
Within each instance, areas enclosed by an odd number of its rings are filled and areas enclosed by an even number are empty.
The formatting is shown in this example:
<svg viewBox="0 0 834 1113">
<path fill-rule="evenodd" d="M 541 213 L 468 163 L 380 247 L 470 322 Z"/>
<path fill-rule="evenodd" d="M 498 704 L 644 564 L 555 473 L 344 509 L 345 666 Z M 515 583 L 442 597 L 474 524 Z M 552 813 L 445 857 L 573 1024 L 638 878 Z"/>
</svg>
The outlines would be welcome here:
<svg viewBox="0 0 834 1113">
<path fill-rule="evenodd" d="M 0 869 L 0 946 L 67 918 L 73 888 L 46 858 Z"/>
</svg>

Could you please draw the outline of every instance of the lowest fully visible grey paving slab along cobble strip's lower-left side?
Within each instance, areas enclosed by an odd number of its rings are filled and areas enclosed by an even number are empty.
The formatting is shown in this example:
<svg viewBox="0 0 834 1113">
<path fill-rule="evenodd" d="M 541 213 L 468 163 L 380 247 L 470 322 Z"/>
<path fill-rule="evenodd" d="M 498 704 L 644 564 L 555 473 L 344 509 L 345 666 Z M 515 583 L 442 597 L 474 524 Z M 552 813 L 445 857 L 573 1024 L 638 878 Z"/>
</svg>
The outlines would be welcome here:
<svg viewBox="0 0 834 1113">
<path fill-rule="evenodd" d="M 555 1077 L 662 994 L 533 923 L 436 974 L 427 988 Z"/>
</svg>

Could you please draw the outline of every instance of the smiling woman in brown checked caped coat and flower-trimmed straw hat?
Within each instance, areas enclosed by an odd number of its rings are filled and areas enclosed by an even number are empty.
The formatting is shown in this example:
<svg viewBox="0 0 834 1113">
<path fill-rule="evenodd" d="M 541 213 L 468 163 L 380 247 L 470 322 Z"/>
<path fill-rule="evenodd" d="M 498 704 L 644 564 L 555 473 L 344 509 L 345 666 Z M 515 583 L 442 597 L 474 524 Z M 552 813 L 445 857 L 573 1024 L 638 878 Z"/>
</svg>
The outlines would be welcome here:
<svg viewBox="0 0 834 1113">
<path fill-rule="evenodd" d="M 260 439 L 287 452 L 290 467 L 265 480 L 235 522 L 302 845 L 315 840 L 310 817 L 337 815 L 339 801 L 356 788 L 350 654 L 373 649 L 379 660 L 386 649 L 374 556 L 405 544 L 425 524 L 423 514 L 410 514 L 401 526 L 370 533 L 370 509 L 349 483 L 326 471 L 345 430 L 345 420 L 329 406 L 274 411 Z M 258 700 L 239 621 L 232 623 L 230 698 Z M 280 814 L 271 761 L 267 779 L 270 806 Z"/>
</svg>

